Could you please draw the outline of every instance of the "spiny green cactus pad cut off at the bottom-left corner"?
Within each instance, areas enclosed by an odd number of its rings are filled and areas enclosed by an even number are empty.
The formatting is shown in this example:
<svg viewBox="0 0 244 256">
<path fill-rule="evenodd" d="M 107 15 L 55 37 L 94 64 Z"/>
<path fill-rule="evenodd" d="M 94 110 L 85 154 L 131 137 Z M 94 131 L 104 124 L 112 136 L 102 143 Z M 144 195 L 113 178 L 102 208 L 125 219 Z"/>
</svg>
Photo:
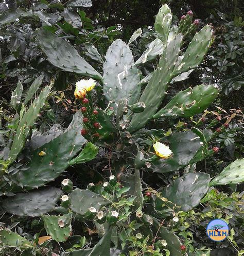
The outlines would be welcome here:
<svg viewBox="0 0 244 256">
<path fill-rule="evenodd" d="M 20 246 L 22 249 L 34 247 L 25 237 L 3 228 L 0 228 L 0 246 Z"/>
</svg>

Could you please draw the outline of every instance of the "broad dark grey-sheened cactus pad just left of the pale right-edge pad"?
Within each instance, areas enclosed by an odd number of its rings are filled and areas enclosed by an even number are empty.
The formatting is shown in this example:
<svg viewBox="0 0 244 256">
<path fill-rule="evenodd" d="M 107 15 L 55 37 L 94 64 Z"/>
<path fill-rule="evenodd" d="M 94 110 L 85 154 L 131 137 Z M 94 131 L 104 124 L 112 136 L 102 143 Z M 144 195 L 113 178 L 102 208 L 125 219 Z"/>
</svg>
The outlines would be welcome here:
<svg viewBox="0 0 244 256">
<path fill-rule="evenodd" d="M 173 184 L 162 191 L 162 196 L 181 206 L 187 212 L 198 206 L 208 191 L 210 176 L 205 173 L 188 173 L 173 181 Z"/>
</svg>

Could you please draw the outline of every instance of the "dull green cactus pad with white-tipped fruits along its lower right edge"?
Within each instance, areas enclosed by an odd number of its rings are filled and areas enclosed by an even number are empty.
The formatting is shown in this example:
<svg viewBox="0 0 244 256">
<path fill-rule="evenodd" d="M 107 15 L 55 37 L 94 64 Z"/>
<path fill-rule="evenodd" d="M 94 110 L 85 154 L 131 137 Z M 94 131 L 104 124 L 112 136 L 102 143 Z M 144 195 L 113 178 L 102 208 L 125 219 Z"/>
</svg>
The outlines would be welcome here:
<svg viewBox="0 0 244 256">
<path fill-rule="evenodd" d="M 97 212 L 103 207 L 111 204 L 107 199 L 90 190 L 75 189 L 69 194 L 71 199 L 71 210 L 75 213 L 85 215 L 90 207 L 96 208 Z"/>
</svg>

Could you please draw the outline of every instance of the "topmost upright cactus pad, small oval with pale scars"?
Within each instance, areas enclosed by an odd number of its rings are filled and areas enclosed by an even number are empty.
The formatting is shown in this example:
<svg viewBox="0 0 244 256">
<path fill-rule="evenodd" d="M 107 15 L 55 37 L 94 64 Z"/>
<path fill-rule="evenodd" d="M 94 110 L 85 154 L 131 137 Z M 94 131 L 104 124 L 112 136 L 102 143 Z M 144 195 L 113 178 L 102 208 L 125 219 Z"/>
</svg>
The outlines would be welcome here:
<svg viewBox="0 0 244 256">
<path fill-rule="evenodd" d="M 163 5 L 160 8 L 158 14 L 156 15 L 154 28 L 164 45 L 167 44 L 171 22 L 172 22 L 171 10 L 168 7 L 168 5 Z"/>
</svg>

